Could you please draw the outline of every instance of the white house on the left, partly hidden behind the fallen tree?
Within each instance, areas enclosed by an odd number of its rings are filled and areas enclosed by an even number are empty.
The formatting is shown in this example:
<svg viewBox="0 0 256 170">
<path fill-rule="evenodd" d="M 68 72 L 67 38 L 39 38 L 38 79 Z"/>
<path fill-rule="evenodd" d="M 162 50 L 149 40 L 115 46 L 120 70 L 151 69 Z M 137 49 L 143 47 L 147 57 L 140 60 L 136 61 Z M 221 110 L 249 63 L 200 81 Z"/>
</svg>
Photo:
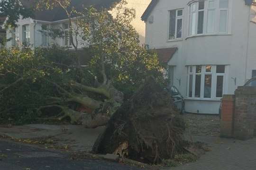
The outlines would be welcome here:
<svg viewBox="0 0 256 170">
<path fill-rule="evenodd" d="M 28 5 L 28 1 L 23 0 L 25 5 Z M 33 1 L 33 0 L 32 0 Z M 81 9 L 82 6 L 94 6 L 95 8 L 110 8 L 111 3 L 120 0 L 71 0 L 71 6 Z M 140 16 L 143 14 L 145 9 L 151 0 L 127 0 L 128 8 L 136 9 L 136 18 L 132 22 L 133 26 L 139 34 L 139 40 L 141 44 L 145 43 L 145 24 L 140 20 Z M 111 3 L 110 3 L 111 2 Z M 115 8 L 113 9 L 115 10 Z M 61 8 L 54 8 L 53 10 L 46 11 L 36 11 L 33 18 L 25 18 L 18 20 L 16 23 L 17 27 L 13 30 L 7 30 L 7 39 L 12 38 L 11 41 L 7 42 L 7 48 L 12 46 L 19 46 L 22 44 L 29 44 L 30 47 L 47 47 L 52 44 L 58 44 L 62 47 L 72 49 L 70 37 L 64 36 L 64 38 L 51 38 L 47 36 L 44 32 L 47 32 L 49 28 L 62 29 L 64 32 L 68 33 L 69 24 L 68 19 Z M 78 48 L 82 48 L 82 39 L 79 41 Z"/>
</svg>

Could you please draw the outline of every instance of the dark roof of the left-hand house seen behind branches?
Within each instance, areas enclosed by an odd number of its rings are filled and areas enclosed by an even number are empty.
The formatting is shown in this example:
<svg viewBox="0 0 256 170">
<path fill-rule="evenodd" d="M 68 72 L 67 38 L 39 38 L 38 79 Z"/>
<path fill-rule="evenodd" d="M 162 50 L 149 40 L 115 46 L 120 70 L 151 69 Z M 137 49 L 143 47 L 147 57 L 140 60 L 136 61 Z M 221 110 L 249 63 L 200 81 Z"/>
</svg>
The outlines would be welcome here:
<svg viewBox="0 0 256 170">
<path fill-rule="evenodd" d="M 70 9 L 74 7 L 77 11 L 82 11 L 83 8 L 93 6 L 97 9 L 111 8 L 115 2 L 120 0 L 71 0 Z M 37 0 L 22 0 L 22 3 L 27 8 L 33 8 Z M 33 19 L 42 21 L 58 21 L 67 19 L 64 9 L 56 7 L 53 10 L 41 10 L 35 11 L 32 17 Z"/>
</svg>

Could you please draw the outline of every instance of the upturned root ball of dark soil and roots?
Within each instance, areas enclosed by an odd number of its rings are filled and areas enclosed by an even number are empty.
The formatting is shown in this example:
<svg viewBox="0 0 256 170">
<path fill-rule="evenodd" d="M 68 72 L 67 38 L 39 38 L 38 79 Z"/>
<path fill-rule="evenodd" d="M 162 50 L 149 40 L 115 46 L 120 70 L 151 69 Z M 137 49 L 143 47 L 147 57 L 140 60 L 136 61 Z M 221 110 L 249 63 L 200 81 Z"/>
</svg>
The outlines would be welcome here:
<svg viewBox="0 0 256 170">
<path fill-rule="evenodd" d="M 112 115 L 93 152 L 157 164 L 183 150 L 184 129 L 171 96 L 154 77 L 148 77 Z"/>
</svg>

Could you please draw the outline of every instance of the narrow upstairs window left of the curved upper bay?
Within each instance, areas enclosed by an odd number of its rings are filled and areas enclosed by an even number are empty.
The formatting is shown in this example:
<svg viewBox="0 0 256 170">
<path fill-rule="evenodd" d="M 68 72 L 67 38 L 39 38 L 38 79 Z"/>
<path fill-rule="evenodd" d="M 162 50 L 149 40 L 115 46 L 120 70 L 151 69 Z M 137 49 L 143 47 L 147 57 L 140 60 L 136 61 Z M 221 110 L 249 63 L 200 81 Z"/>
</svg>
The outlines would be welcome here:
<svg viewBox="0 0 256 170">
<path fill-rule="evenodd" d="M 169 35 L 168 40 L 182 38 L 183 9 L 169 11 Z"/>
</svg>

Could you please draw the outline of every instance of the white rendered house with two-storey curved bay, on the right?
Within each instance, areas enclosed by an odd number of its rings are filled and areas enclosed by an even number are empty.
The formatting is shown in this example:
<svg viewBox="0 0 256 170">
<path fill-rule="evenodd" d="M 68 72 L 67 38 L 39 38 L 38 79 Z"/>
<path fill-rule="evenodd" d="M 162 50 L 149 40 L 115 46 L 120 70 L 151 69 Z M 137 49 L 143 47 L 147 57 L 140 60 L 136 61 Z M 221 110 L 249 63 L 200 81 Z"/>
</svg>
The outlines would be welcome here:
<svg viewBox="0 0 256 170">
<path fill-rule="evenodd" d="M 256 76 L 253 0 L 152 0 L 141 17 L 146 44 L 168 64 L 185 110 L 218 114 L 223 94 Z"/>
</svg>

